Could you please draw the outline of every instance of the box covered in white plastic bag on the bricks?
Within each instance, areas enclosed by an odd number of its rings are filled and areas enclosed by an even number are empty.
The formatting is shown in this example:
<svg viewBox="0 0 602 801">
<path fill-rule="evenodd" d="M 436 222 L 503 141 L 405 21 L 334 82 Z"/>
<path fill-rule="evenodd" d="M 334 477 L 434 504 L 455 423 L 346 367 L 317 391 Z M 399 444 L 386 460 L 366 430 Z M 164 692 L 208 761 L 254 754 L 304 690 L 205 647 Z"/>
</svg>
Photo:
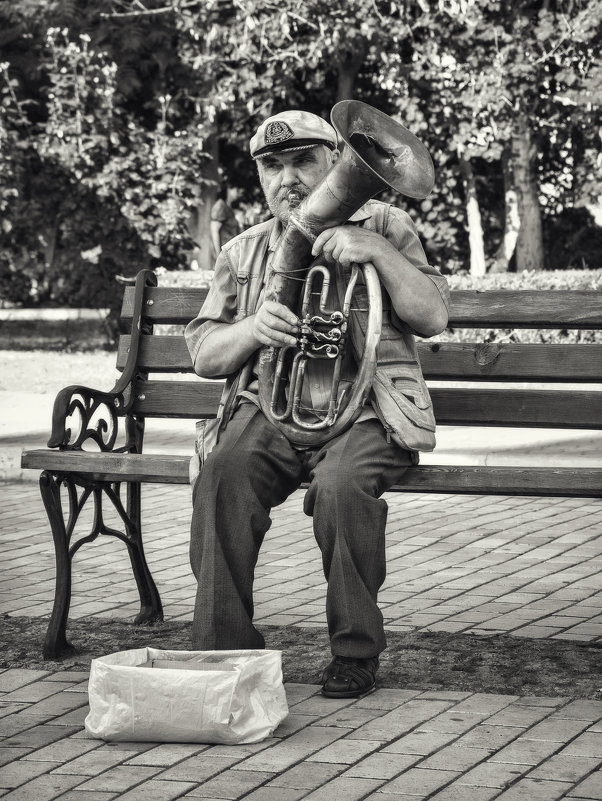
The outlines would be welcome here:
<svg viewBox="0 0 602 801">
<path fill-rule="evenodd" d="M 142 667 L 193 660 L 203 669 Z M 103 740 L 255 743 L 288 714 L 281 652 L 138 648 L 93 659 L 86 731 Z"/>
</svg>

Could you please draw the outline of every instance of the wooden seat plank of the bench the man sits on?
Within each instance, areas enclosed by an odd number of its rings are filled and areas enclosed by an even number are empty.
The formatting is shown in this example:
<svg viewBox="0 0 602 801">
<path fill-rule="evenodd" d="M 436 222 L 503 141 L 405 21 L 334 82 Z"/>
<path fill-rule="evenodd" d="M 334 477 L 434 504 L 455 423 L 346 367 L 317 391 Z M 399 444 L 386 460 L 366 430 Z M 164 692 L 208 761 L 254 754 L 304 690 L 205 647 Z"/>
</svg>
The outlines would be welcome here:
<svg viewBox="0 0 602 801">
<path fill-rule="evenodd" d="M 96 481 L 187 484 L 189 456 L 113 454 L 37 449 L 24 451 L 23 467 L 76 471 Z M 306 485 L 304 485 L 306 486 Z M 393 490 L 401 492 L 601 497 L 602 468 L 480 467 L 428 465 L 412 468 Z"/>
</svg>

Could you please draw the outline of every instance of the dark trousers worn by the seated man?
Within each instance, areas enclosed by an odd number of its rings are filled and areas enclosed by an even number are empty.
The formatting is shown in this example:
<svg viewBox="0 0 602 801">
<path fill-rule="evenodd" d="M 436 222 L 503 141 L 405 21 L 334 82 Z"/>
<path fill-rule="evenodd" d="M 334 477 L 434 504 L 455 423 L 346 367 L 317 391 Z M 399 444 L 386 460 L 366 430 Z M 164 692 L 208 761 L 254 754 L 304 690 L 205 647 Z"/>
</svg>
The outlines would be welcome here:
<svg viewBox="0 0 602 801">
<path fill-rule="evenodd" d="M 386 647 L 378 590 L 386 574 L 387 504 L 380 498 L 411 464 L 378 420 L 356 423 L 322 447 L 295 450 L 252 403 L 242 403 L 194 489 L 190 561 L 198 582 L 193 648 L 263 648 L 253 625 L 254 570 L 270 511 L 309 481 L 328 582 L 332 653 L 371 657 Z"/>
</svg>

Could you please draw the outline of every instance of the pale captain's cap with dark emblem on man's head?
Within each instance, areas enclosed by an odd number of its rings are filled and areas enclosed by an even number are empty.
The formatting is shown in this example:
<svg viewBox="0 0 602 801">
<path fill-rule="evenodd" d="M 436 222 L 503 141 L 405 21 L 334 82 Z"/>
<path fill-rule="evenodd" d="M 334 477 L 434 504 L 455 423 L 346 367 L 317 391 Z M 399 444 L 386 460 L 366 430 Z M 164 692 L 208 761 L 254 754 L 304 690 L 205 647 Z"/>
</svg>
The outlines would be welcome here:
<svg viewBox="0 0 602 801">
<path fill-rule="evenodd" d="M 264 120 L 249 143 L 254 159 L 283 150 L 305 150 L 315 145 L 337 146 L 332 125 L 309 111 L 283 111 Z"/>
</svg>

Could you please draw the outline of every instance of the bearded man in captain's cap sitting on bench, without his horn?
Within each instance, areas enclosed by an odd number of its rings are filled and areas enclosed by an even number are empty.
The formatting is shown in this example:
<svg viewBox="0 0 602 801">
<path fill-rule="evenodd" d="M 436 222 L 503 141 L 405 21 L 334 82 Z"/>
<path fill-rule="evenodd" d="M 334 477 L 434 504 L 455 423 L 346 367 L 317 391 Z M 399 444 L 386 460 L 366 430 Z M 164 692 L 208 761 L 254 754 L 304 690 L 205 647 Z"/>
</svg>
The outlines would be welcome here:
<svg viewBox="0 0 602 801">
<path fill-rule="evenodd" d="M 383 335 L 377 373 L 368 403 L 346 431 L 319 447 L 289 442 L 260 409 L 256 367 L 262 346 L 295 344 L 299 319 L 286 306 L 264 301 L 262 290 L 291 211 L 339 157 L 337 135 L 314 114 L 287 111 L 259 126 L 250 153 L 273 218 L 222 248 L 207 299 L 186 330 L 198 375 L 227 379 L 214 441 L 200 445 L 203 458 L 212 450 L 193 491 L 193 646 L 264 646 L 253 625 L 259 549 L 271 509 L 308 481 L 304 511 L 313 518 L 328 583 L 332 661 L 322 692 L 356 697 L 375 688 L 386 647 L 377 604 L 386 573 L 387 504 L 381 495 L 417 462 L 419 450 L 434 447 L 432 406 L 413 334 L 432 336 L 445 328 L 449 294 L 405 212 L 368 201 L 347 224 L 323 231 L 313 245 L 317 261 L 336 270 L 372 262 L 378 272 Z M 346 380 L 353 380 L 354 369 L 350 353 Z M 321 408 L 325 383 L 320 362 L 312 361 L 304 401 Z"/>
</svg>

